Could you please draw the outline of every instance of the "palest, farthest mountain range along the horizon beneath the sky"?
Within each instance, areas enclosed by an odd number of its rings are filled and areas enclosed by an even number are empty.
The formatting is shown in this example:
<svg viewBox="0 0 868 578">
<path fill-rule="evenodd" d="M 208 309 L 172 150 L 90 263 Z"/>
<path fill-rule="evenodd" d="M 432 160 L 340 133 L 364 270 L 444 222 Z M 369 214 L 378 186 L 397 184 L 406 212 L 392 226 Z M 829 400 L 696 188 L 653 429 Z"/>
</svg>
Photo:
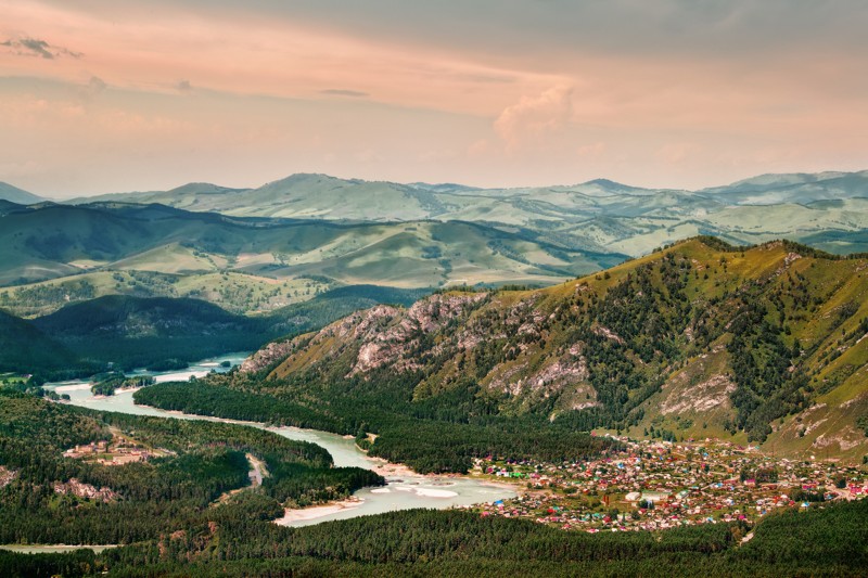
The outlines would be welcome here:
<svg viewBox="0 0 868 578">
<path fill-rule="evenodd" d="M 580 184 L 478 189 L 293 175 L 257 189 L 190 184 L 111 195 L 231 216 L 329 221 L 467 221 L 523 230 L 574 251 L 640 256 L 697 234 L 761 243 L 809 240 L 832 253 L 868 251 L 868 171 L 769 175 L 701 191 Z M 834 204 L 838 203 L 838 204 Z"/>
</svg>

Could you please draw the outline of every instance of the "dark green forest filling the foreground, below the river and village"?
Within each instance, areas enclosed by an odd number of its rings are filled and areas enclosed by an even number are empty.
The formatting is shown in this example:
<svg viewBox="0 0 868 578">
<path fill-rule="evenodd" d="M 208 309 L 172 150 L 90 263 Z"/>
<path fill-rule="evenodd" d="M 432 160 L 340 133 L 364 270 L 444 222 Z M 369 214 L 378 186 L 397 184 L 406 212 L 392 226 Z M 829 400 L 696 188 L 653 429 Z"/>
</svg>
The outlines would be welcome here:
<svg viewBox="0 0 868 578">
<path fill-rule="evenodd" d="M 148 388 L 145 388 L 146 390 Z M 136 448 L 106 464 L 76 445 Z M 254 487 L 257 459 L 267 475 Z M 113 461 L 110 458 L 110 462 Z M 0 576 L 858 576 L 868 501 L 655 532 L 563 531 L 411 510 L 286 528 L 282 504 L 383 484 L 272 432 L 71 408 L 0 389 L 0 543 L 118 544 L 95 555 L 0 550 Z"/>
</svg>

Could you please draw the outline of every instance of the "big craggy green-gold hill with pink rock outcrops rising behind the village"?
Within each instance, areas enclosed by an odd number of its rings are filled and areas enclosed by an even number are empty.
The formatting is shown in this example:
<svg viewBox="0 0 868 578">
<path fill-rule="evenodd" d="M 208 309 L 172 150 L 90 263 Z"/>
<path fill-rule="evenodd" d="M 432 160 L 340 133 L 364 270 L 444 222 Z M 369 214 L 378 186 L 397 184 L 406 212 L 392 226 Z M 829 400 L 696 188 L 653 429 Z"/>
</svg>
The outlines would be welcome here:
<svg viewBox="0 0 868 578">
<path fill-rule="evenodd" d="M 865 257 L 697 237 L 546 290 L 378 306 L 282 345 L 271 380 L 244 387 L 323 411 L 384 396 L 416 418 L 861 457 L 867 335 Z"/>
</svg>

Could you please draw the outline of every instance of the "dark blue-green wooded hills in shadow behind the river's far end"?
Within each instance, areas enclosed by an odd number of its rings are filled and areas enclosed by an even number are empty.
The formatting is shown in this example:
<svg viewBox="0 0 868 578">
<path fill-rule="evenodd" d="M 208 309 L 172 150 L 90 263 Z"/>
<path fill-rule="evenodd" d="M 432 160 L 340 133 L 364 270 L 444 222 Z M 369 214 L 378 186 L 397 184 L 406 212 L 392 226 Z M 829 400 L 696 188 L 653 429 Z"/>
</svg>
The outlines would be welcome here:
<svg viewBox="0 0 868 578">
<path fill-rule="evenodd" d="M 179 369 L 226 351 L 257 349 L 379 303 L 408 305 L 426 293 L 373 285 L 337 287 L 256 318 L 199 299 L 123 295 L 73 303 L 35 320 L 0 309 L 0 371 L 58 381 L 103 372 L 110 363 L 127 371 Z"/>
</svg>

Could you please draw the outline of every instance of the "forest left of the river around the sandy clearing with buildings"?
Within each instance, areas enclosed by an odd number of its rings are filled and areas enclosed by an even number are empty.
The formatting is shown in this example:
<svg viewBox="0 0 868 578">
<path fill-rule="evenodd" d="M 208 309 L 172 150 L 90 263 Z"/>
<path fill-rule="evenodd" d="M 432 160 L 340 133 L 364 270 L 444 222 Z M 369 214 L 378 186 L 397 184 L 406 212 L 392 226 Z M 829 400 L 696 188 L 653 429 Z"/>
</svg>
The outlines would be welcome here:
<svg viewBox="0 0 868 578">
<path fill-rule="evenodd" d="M 102 465 L 64 449 L 119 434 L 155 450 L 146 462 Z M 248 485 L 245 453 L 261 459 L 260 488 Z M 131 543 L 215 519 L 278 517 L 281 504 L 309 504 L 382 484 L 360 468 L 332 466 L 322 448 L 263 429 L 94 412 L 0 390 L 0 465 L 15 472 L 0 488 L 0 543 Z M 77 480 L 103 498 L 55 491 Z"/>
</svg>

